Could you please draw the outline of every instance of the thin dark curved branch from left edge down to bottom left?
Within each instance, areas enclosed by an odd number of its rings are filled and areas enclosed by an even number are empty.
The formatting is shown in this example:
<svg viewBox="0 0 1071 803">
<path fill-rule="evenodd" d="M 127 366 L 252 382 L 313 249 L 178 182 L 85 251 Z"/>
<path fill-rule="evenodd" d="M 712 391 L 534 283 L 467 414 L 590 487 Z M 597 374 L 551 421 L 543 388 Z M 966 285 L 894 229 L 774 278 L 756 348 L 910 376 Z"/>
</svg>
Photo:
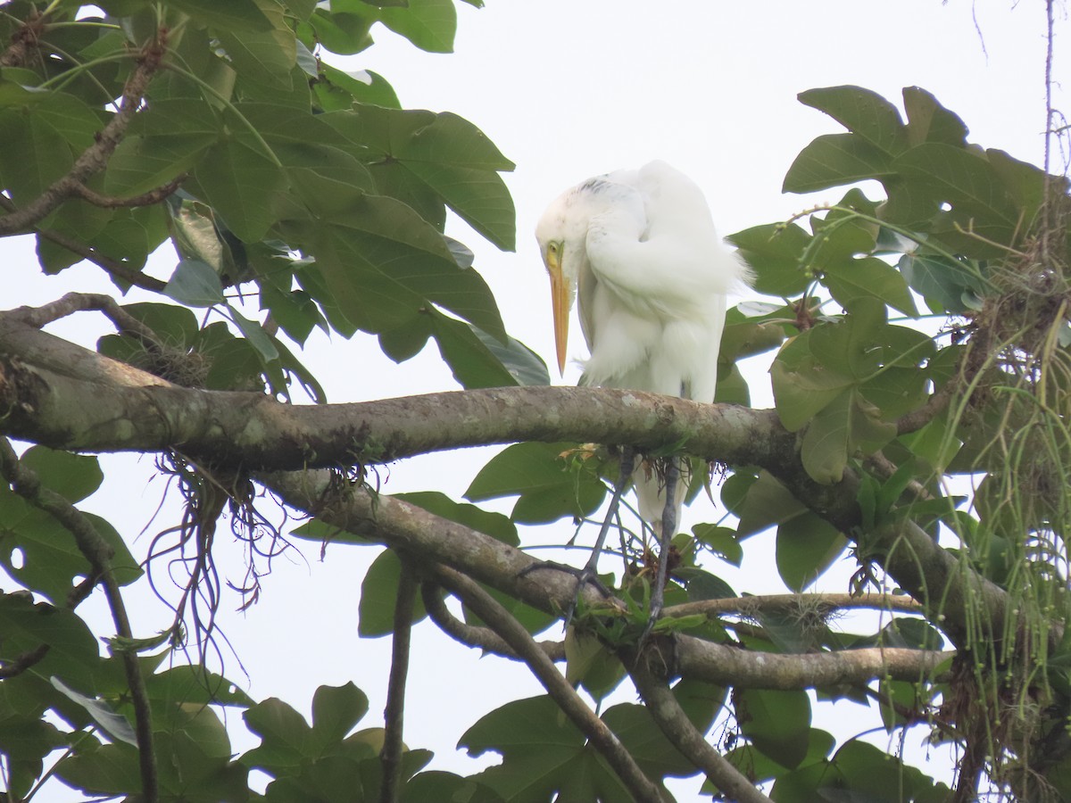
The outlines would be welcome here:
<svg viewBox="0 0 1071 803">
<path fill-rule="evenodd" d="M 130 619 L 123 605 L 119 584 L 111 572 L 111 547 L 101 536 L 93 522 L 77 507 L 54 490 L 42 487 L 34 471 L 19 461 L 15 450 L 6 438 L 0 438 L 0 474 L 11 484 L 12 490 L 34 507 L 51 515 L 70 532 L 92 567 L 94 577 L 104 587 L 116 633 L 122 638 L 132 639 Z M 156 781 L 156 755 L 153 748 L 152 713 L 149 709 L 149 696 L 141 677 L 141 668 L 137 654 L 122 651 L 119 653 L 126 671 L 126 683 L 130 686 L 131 702 L 134 706 L 134 723 L 137 733 L 138 761 L 141 770 L 141 798 L 147 803 L 156 803 L 159 798 Z"/>
</svg>

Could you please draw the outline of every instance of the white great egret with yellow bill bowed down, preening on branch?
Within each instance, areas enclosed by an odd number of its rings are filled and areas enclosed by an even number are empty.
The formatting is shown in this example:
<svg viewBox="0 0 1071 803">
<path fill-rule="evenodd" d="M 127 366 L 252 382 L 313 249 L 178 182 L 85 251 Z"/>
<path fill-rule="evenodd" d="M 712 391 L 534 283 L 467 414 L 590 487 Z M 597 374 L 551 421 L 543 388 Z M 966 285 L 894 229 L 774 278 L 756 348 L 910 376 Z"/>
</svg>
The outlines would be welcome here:
<svg viewBox="0 0 1071 803">
<path fill-rule="evenodd" d="M 725 294 L 745 283 L 749 271 L 718 237 L 695 182 L 664 162 L 588 179 L 547 207 L 536 239 L 550 275 L 559 370 L 578 294 L 590 352 L 580 384 L 713 402 Z M 625 450 L 612 509 L 632 466 Z M 664 482 L 643 472 L 635 482 L 639 514 L 661 536 L 652 620 L 661 610 L 666 548 L 679 520 L 678 474 L 678 461 L 669 460 Z M 609 515 L 582 585 L 594 577 L 608 525 Z"/>
</svg>

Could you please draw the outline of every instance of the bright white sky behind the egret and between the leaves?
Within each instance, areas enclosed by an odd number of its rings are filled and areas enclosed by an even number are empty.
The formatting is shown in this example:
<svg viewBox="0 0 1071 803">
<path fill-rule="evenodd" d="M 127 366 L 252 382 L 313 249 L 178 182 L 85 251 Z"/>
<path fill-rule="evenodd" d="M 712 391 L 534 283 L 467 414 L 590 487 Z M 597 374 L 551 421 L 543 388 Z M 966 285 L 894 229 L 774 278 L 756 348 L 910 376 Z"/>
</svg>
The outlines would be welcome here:
<svg viewBox="0 0 1071 803">
<path fill-rule="evenodd" d="M 796 94 L 841 84 L 876 90 L 897 104 L 902 87 L 921 86 L 963 117 L 972 141 L 1035 163 L 1041 160 L 1045 116 L 1040 2 L 1014 7 L 1007 0 L 487 2 L 483 10 L 458 3 L 453 55 L 423 54 L 377 28 L 378 44 L 369 51 L 331 61 L 382 74 L 406 107 L 466 117 L 516 163 L 507 182 L 517 206 L 517 254 L 498 253 L 462 224 L 451 233 L 476 251 L 476 266 L 492 285 L 511 334 L 548 362 L 554 350 L 547 282 L 531 231 L 552 198 L 589 176 L 663 158 L 705 190 L 723 233 L 783 219 L 815 200 L 839 197 L 835 192 L 817 199 L 784 196 L 781 182 L 794 156 L 814 136 L 841 131 L 831 119 L 799 104 Z M 1062 12 L 1058 24 L 1058 33 L 1066 34 Z M 1058 39 L 1057 80 L 1067 74 L 1062 45 Z M 20 260 L 9 262 L 10 272 L 18 271 L 18 284 L 7 285 L 4 307 L 41 303 L 67 290 L 114 291 L 95 276 L 95 269 L 85 266 L 58 278 L 24 278 L 20 274 L 32 271 L 28 241 L 5 243 L 3 253 Z M 169 259 L 163 258 L 157 275 L 166 277 Z M 52 331 L 90 344 L 104 328 L 84 317 Z M 573 357 L 580 355 L 579 339 L 571 346 Z M 304 354 L 307 364 L 333 402 L 455 388 L 434 346 L 401 366 L 379 355 L 375 342 L 366 337 L 330 344 L 314 338 L 310 348 Z M 567 382 L 575 379 L 575 368 L 567 372 Z M 751 381 L 756 404 L 768 405 L 761 368 L 751 374 Z M 470 450 L 393 466 L 383 490 L 434 488 L 459 498 L 488 454 Z M 108 516 L 130 541 L 146 526 L 163 482 L 147 481 L 149 458 L 112 460 L 126 467 L 123 474 L 109 478 L 106 489 L 87 506 Z M 719 515 L 700 499 L 690 519 L 716 520 Z M 170 507 L 150 532 L 174 522 Z M 564 541 L 571 531 L 562 522 L 541 537 Z M 148 537 L 140 537 L 136 554 L 146 548 Z M 320 563 L 314 545 L 302 549 L 307 564 L 280 561 L 265 580 L 262 601 L 244 616 L 227 612 L 239 600 L 225 596 L 223 622 L 252 678 L 248 691 L 256 698 L 282 697 L 307 716 L 318 684 L 352 680 L 372 699 L 364 725 L 378 725 L 390 643 L 357 638 L 358 584 L 375 552 L 334 547 Z M 241 579 L 238 556 L 232 547 L 224 558 L 235 581 Z M 765 546 L 753 561 L 757 571 L 710 569 L 724 574 L 738 591 L 781 590 L 770 578 L 770 560 Z M 824 588 L 844 590 L 851 569 L 846 562 Z M 149 601 L 135 613 L 140 635 L 166 621 Z M 474 764 L 463 754 L 452 758 L 462 732 L 501 702 L 541 688 L 524 669 L 495 658 L 478 661 L 432 625 L 419 627 L 413 640 L 406 742 L 434 749 L 433 768 L 473 772 Z M 243 680 L 232 658 L 227 670 L 232 679 Z M 839 710 L 858 716 L 847 707 L 834 709 L 834 715 Z M 814 724 L 833 727 L 820 715 Z M 842 722 L 836 729 L 847 736 L 856 732 L 851 725 Z M 884 739 L 879 736 L 876 743 L 885 746 Z M 697 799 L 698 781 L 674 788 L 682 802 Z"/>
</svg>

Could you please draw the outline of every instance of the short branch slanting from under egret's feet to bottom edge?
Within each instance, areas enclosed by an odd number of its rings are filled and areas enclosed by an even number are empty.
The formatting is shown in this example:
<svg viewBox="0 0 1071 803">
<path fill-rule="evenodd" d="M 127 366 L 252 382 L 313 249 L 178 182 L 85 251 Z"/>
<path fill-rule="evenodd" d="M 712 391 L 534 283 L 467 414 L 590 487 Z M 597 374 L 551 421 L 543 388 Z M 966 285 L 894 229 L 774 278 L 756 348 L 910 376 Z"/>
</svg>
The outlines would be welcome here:
<svg viewBox="0 0 1071 803">
<path fill-rule="evenodd" d="M 648 656 L 652 651 L 657 651 L 654 645 L 638 654 L 624 650 L 619 655 L 625 661 L 636 691 L 644 698 L 647 710 L 666 739 L 689 761 L 702 768 L 707 778 L 729 800 L 737 803 L 771 803 L 728 759 L 711 747 L 703 733 L 692 725 L 669 687 L 651 671 Z"/>
</svg>

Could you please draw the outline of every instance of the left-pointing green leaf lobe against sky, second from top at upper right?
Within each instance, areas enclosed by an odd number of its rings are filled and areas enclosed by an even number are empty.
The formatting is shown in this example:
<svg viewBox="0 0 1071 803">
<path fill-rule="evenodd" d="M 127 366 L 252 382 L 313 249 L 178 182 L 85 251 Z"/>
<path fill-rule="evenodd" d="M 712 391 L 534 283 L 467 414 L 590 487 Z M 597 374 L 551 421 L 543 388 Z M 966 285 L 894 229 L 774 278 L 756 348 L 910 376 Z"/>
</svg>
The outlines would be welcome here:
<svg viewBox="0 0 1071 803">
<path fill-rule="evenodd" d="M 895 172 L 881 149 L 855 134 L 824 134 L 800 151 L 785 173 L 782 192 L 813 193 Z"/>
</svg>

